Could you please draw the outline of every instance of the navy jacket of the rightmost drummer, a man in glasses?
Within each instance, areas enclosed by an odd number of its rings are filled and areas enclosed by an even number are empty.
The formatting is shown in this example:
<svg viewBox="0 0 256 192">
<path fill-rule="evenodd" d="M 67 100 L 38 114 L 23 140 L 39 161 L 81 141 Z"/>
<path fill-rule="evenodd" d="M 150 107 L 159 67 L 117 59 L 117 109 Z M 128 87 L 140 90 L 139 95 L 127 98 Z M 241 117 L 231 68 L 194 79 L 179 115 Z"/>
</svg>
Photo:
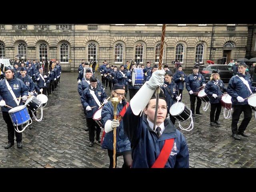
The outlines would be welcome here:
<svg viewBox="0 0 256 192">
<path fill-rule="evenodd" d="M 244 76 L 243 74 L 238 73 L 238 76 L 243 77 L 245 80 L 248 80 L 249 76 Z M 246 105 L 248 104 L 247 99 L 244 102 L 238 102 L 237 97 L 240 96 L 242 98 L 247 98 L 251 95 L 247 86 L 242 82 L 242 80 L 238 76 L 232 76 L 232 78 L 228 82 L 227 93 L 232 97 L 231 102 L 232 105 Z M 256 92 L 255 87 L 249 83 L 250 89 L 252 92 Z"/>
</svg>

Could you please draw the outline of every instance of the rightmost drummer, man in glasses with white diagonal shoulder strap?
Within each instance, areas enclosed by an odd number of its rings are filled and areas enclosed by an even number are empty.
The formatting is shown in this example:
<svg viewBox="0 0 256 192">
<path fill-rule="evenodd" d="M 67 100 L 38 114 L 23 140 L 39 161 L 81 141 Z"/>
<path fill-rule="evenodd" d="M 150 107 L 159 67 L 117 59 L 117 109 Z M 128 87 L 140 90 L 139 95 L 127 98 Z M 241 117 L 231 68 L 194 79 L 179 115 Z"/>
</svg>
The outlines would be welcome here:
<svg viewBox="0 0 256 192">
<path fill-rule="evenodd" d="M 232 137 L 235 140 L 241 140 L 240 136 L 249 137 L 248 134 L 244 133 L 252 118 L 252 108 L 248 104 L 247 99 L 252 92 L 256 92 L 255 87 L 252 87 L 248 82 L 249 76 L 245 74 L 246 64 L 241 62 L 238 64 L 238 72 L 228 82 L 227 93 L 232 97 L 232 107 L 234 109 L 232 113 Z M 240 126 L 237 128 L 237 124 L 241 113 L 244 112 L 244 119 Z"/>
</svg>

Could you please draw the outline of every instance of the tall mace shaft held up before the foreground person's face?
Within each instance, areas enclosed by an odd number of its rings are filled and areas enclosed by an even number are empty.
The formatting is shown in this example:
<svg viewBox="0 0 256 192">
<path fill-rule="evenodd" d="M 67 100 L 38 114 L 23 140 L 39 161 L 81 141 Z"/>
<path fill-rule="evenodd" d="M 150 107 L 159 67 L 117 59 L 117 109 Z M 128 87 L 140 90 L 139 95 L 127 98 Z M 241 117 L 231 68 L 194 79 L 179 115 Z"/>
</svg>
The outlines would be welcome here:
<svg viewBox="0 0 256 192">
<path fill-rule="evenodd" d="M 165 36 L 166 24 L 162 26 L 162 35 L 161 35 L 161 45 L 160 45 L 160 58 L 158 63 L 158 70 L 162 70 L 162 61 L 163 61 L 163 53 L 164 53 L 164 36 Z M 156 88 L 156 110 L 155 110 L 155 118 L 154 118 L 154 126 L 153 130 L 156 129 L 156 118 L 158 111 L 158 101 L 159 101 L 160 87 Z"/>
</svg>

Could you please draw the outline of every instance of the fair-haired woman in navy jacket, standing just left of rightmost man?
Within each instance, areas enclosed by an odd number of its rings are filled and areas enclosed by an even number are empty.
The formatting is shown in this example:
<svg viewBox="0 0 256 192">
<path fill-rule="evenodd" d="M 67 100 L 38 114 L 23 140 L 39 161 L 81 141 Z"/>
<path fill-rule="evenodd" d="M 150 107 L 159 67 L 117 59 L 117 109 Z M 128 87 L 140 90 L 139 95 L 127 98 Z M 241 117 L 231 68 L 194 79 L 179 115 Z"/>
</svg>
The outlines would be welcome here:
<svg viewBox="0 0 256 192">
<path fill-rule="evenodd" d="M 210 98 L 211 111 L 210 111 L 210 126 L 220 125 L 219 117 L 221 112 L 221 97 L 226 92 L 225 84 L 220 79 L 218 71 L 213 70 L 210 80 L 206 83 L 204 92 Z M 216 111 L 216 113 L 215 113 Z M 215 114 L 215 115 L 214 115 Z M 214 118 L 215 116 L 215 118 Z"/>
</svg>

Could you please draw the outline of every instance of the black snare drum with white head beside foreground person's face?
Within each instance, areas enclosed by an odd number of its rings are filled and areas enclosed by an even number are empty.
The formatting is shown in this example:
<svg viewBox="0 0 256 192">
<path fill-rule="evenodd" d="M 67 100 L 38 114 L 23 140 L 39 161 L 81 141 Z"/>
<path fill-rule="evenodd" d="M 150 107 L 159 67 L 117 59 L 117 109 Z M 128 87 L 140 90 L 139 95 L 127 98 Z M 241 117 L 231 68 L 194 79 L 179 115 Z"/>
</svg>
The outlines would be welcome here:
<svg viewBox="0 0 256 192">
<path fill-rule="evenodd" d="M 174 103 L 170 107 L 170 114 L 176 117 L 179 121 L 186 121 L 190 118 L 190 110 L 182 102 Z"/>
</svg>

